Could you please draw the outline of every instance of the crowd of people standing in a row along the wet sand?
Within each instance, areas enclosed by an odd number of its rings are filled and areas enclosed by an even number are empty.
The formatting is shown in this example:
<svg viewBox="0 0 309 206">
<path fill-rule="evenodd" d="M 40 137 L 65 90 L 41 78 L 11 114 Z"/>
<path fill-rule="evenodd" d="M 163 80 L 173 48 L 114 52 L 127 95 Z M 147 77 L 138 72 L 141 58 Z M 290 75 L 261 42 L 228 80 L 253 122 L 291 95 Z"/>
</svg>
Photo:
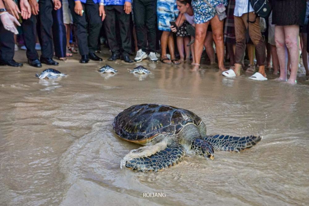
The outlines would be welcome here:
<svg viewBox="0 0 309 206">
<path fill-rule="evenodd" d="M 296 84 L 300 48 L 309 76 L 309 1 L 268 3 L 272 12 L 261 18 L 249 0 L 0 0 L 0 65 L 23 65 L 13 60 L 17 34 L 34 67 L 58 65 L 54 56 L 66 60 L 78 52 L 80 63 L 102 61 L 96 52 L 104 39 L 109 61 L 132 63 L 130 55 L 136 52 L 136 62 L 147 57 L 164 64 L 192 61 L 197 71 L 205 48 L 210 64 L 217 56 L 223 76 L 239 76 L 246 69 L 251 79 L 267 80 L 265 68 L 272 67 L 273 74 L 280 74 L 277 80 Z M 227 57 L 230 68 L 224 65 Z"/>
</svg>

